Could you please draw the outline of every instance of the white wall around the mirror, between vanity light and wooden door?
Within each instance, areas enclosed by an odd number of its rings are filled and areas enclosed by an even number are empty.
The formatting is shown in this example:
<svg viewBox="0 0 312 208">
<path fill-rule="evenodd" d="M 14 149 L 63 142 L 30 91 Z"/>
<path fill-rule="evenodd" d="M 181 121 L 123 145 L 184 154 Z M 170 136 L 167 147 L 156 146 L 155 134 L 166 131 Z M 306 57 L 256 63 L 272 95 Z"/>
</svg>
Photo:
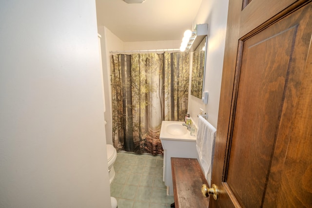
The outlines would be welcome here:
<svg viewBox="0 0 312 208">
<path fill-rule="evenodd" d="M 203 0 L 197 16 L 196 24 L 208 23 L 208 51 L 206 57 L 206 74 L 204 91 L 209 92 L 208 104 L 191 95 L 189 113 L 195 124 L 198 124 L 199 109 L 207 113 L 208 121 L 217 126 L 221 77 L 225 47 L 226 23 L 229 0 Z"/>
</svg>

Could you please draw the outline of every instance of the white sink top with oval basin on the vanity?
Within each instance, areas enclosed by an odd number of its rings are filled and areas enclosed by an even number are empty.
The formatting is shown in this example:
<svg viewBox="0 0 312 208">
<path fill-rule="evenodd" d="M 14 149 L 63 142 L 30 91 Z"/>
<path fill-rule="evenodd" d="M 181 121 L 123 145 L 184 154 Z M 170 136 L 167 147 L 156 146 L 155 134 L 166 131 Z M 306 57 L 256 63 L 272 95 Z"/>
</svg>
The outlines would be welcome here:
<svg viewBox="0 0 312 208">
<path fill-rule="evenodd" d="M 162 121 L 160 129 L 160 139 L 194 141 L 195 136 L 183 126 L 183 121 Z"/>
</svg>

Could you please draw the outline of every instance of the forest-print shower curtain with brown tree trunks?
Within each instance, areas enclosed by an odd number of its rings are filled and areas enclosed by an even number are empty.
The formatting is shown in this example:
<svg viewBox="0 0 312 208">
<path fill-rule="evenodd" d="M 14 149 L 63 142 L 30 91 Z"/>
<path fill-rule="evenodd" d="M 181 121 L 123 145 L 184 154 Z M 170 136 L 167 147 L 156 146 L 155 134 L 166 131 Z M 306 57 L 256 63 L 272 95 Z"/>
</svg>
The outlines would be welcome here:
<svg viewBox="0 0 312 208">
<path fill-rule="evenodd" d="M 111 55 L 113 143 L 117 151 L 163 154 L 161 121 L 183 121 L 188 53 Z"/>
</svg>

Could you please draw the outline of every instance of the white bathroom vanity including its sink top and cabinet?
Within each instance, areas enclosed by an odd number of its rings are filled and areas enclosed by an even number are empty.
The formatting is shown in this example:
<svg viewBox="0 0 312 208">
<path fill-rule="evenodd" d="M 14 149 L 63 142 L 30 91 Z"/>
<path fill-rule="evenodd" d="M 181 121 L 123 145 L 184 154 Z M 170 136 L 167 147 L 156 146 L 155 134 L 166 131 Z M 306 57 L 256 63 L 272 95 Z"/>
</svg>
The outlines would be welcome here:
<svg viewBox="0 0 312 208">
<path fill-rule="evenodd" d="M 192 136 L 183 121 L 162 121 L 160 140 L 164 149 L 163 181 L 167 186 L 167 195 L 174 195 L 171 158 L 196 158 L 196 136 Z"/>
</svg>

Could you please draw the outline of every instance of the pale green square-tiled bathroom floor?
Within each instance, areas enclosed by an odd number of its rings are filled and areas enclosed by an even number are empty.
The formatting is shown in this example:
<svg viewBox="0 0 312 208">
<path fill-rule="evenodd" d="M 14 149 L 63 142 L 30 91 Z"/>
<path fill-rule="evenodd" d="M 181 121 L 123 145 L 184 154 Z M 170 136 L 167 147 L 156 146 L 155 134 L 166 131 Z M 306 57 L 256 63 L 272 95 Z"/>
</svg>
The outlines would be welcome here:
<svg viewBox="0 0 312 208">
<path fill-rule="evenodd" d="M 118 208 L 170 208 L 174 202 L 162 181 L 163 156 L 120 151 L 114 168 L 111 196 Z"/>
</svg>

